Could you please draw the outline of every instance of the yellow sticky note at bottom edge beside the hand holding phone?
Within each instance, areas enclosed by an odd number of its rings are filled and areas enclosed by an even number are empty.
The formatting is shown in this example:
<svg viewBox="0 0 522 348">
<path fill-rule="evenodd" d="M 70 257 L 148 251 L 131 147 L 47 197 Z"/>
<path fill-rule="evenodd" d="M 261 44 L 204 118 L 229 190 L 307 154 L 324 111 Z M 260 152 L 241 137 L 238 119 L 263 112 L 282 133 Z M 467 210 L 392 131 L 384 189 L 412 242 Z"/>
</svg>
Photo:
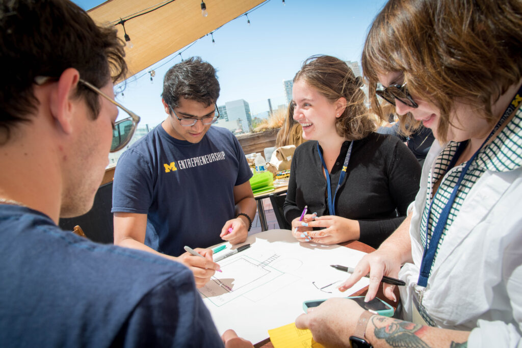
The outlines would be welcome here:
<svg viewBox="0 0 522 348">
<path fill-rule="evenodd" d="M 314 341 L 310 330 L 298 329 L 294 322 L 268 330 L 268 334 L 274 348 L 324 348 Z"/>
</svg>

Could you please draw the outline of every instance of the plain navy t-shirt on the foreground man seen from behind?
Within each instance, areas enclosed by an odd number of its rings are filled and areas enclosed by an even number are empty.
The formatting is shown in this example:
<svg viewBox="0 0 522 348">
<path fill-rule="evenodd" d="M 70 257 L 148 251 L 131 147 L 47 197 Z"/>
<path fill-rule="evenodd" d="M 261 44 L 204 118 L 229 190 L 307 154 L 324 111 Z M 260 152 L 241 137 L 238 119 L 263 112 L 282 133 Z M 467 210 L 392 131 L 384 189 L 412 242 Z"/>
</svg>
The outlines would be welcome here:
<svg viewBox="0 0 522 348">
<path fill-rule="evenodd" d="M 0 347 L 222 347 L 181 263 L 0 205 Z"/>
</svg>

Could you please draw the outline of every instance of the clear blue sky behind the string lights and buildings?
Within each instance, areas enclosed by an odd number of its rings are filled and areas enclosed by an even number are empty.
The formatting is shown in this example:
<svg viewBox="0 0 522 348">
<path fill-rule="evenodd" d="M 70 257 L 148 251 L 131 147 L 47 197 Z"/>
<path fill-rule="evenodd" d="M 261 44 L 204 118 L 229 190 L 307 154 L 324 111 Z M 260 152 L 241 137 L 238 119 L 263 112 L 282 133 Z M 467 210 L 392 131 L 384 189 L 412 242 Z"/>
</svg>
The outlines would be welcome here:
<svg viewBox="0 0 522 348">
<path fill-rule="evenodd" d="M 238 0 L 239 1 L 239 0 Z M 100 3 L 74 1 L 88 10 Z M 367 30 L 385 4 L 384 0 L 270 0 L 266 5 L 236 18 L 188 48 L 183 58 L 200 56 L 218 69 L 221 94 L 218 105 L 244 99 L 253 115 L 285 102 L 283 80 L 290 80 L 304 59 L 329 54 L 344 61 L 360 61 Z M 206 2 L 212 15 L 211 0 Z M 132 38 L 131 38 L 132 39 Z M 183 51 L 182 49 L 181 51 Z M 117 100 L 141 116 L 141 125 L 156 125 L 167 115 L 161 104 L 162 79 L 181 61 L 169 56 L 126 81 L 124 95 Z M 166 61 L 169 61 L 164 64 Z M 156 71 L 151 83 L 150 69 Z M 117 89 L 115 90 L 117 92 Z M 125 115 L 121 114 L 121 117 Z"/>
</svg>

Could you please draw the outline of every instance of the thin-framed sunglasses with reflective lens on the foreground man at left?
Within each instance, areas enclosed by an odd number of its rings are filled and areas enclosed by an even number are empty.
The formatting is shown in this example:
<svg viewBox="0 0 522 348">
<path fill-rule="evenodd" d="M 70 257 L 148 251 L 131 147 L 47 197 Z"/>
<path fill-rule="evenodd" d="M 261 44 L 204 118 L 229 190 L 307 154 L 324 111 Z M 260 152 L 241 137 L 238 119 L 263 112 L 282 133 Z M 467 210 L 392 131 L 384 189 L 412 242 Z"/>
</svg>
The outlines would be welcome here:
<svg viewBox="0 0 522 348">
<path fill-rule="evenodd" d="M 34 78 L 34 83 L 41 86 L 45 82 L 52 81 L 52 80 L 56 80 L 56 78 L 49 77 L 49 76 L 37 76 Z M 113 127 L 112 144 L 111 144 L 110 151 L 116 152 L 118 150 L 123 149 L 129 143 L 129 141 L 131 141 L 132 136 L 134 135 L 134 132 L 136 131 L 136 127 L 138 125 L 140 117 L 138 115 L 136 115 L 134 112 L 132 112 L 131 110 L 128 110 L 122 104 L 118 103 L 117 101 L 115 101 L 114 99 L 109 97 L 109 95 L 103 93 L 98 87 L 92 85 L 91 83 L 89 83 L 81 78 L 79 79 L 79 81 L 81 83 L 83 83 L 86 87 L 91 89 L 93 92 L 98 93 L 103 98 L 110 101 L 111 103 L 113 103 L 114 105 L 116 105 L 117 107 L 119 107 L 125 113 L 127 113 L 129 115 L 129 117 L 124 118 L 121 121 L 117 121 Z"/>
</svg>

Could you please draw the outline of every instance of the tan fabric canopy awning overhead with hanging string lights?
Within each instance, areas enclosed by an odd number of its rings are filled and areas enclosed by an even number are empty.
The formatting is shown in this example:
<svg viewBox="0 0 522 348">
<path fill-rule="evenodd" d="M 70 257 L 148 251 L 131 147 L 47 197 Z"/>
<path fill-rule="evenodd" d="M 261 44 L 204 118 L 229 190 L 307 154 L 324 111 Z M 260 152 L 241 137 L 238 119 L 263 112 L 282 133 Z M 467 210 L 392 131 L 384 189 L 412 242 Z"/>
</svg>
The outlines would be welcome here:
<svg viewBox="0 0 522 348">
<path fill-rule="evenodd" d="M 120 18 L 126 20 L 125 31 L 134 45 L 132 49 L 125 49 L 129 76 L 181 50 L 264 0 L 205 0 L 207 17 L 201 16 L 200 0 L 169 1 L 109 0 L 88 11 L 98 23 L 115 24 Z M 161 5 L 164 6 L 146 13 Z M 129 19 L 139 14 L 143 15 Z M 117 25 L 116 28 L 123 39 L 123 27 Z"/>
</svg>

